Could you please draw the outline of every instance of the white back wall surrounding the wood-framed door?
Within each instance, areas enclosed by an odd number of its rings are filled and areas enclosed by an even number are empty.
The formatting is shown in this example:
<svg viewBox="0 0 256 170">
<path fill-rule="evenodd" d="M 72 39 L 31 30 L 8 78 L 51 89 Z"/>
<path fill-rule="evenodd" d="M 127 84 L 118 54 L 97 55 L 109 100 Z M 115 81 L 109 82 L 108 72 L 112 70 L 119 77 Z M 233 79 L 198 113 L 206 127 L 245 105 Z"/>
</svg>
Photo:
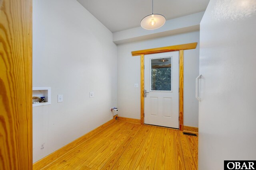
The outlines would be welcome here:
<svg viewBox="0 0 256 170">
<path fill-rule="evenodd" d="M 118 45 L 118 115 L 140 119 L 140 56 L 132 57 L 132 51 L 194 42 L 196 49 L 184 51 L 184 125 L 198 127 L 199 31 Z"/>
</svg>

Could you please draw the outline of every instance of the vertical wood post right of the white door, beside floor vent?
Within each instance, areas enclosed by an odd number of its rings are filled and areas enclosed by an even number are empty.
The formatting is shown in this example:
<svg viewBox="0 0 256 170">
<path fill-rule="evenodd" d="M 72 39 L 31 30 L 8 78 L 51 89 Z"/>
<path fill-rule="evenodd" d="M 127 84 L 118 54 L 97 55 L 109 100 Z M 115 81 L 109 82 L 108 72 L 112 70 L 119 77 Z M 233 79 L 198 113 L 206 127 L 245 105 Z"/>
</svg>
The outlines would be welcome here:
<svg viewBox="0 0 256 170">
<path fill-rule="evenodd" d="M 183 131 L 183 77 L 184 77 L 184 50 L 179 51 L 179 59 L 180 59 L 180 95 L 179 95 L 179 110 L 180 110 L 180 131 Z"/>
</svg>

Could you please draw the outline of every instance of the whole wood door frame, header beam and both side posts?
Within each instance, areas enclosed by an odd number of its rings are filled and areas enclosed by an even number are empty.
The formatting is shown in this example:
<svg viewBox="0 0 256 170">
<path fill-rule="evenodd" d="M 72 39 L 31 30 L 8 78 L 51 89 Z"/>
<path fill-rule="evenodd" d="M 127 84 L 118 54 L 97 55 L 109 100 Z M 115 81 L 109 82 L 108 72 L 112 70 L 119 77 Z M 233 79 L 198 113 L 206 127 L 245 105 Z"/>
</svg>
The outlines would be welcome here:
<svg viewBox="0 0 256 170">
<path fill-rule="evenodd" d="M 132 51 L 132 56 L 140 55 L 140 124 L 144 125 L 144 57 L 145 55 L 179 51 L 179 129 L 183 131 L 183 80 L 184 80 L 184 50 L 195 49 L 197 43 L 188 43 L 160 47 L 154 49 L 145 49 Z"/>
</svg>

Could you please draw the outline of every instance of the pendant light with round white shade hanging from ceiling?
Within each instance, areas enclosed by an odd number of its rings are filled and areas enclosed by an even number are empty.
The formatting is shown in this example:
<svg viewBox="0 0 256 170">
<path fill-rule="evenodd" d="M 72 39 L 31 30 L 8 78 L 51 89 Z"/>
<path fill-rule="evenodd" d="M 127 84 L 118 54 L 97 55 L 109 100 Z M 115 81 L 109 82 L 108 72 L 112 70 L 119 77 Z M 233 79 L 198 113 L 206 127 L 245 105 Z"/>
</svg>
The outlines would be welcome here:
<svg viewBox="0 0 256 170">
<path fill-rule="evenodd" d="M 166 19 L 161 14 L 154 14 L 153 11 L 153 0 L 152 0 L 152 14 L 145 16 L 141 21 L 140 25 L 144 29 L 157 29 L 164 25 Z"/>
</svg>

